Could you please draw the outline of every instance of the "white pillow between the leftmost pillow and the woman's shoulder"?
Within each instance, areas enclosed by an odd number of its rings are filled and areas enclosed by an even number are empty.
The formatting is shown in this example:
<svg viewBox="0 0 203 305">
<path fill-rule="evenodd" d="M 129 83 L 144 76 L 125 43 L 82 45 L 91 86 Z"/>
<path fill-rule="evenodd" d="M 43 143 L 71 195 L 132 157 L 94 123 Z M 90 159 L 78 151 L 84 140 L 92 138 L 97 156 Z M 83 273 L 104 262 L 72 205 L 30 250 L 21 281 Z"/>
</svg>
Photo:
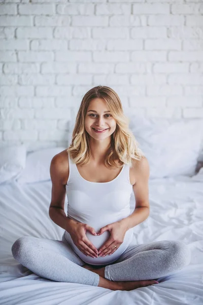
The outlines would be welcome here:
<svg viewBox="0 0 203 305">
<path fill-rule="evenodd" d="M 45 148 L 27 154 L 25 169 L 17 181 L 20 184 L 50 180 L 52 158 L 67 147 Z"/>
</svg>

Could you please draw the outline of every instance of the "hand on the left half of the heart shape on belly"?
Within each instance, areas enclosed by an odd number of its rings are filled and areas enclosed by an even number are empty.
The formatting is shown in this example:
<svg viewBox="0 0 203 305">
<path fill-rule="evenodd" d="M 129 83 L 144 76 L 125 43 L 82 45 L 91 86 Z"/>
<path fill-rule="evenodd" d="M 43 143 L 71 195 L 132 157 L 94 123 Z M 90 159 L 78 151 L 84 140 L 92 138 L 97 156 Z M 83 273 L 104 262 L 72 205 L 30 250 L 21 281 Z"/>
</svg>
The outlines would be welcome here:
<svg viewBox="0 0 203 305">
<path fill-rule="evenodd" d="M 90 231 L 91 234 L 96 235 L 95 230 L 87 224 L 83 224 L 78 221 L 69 222 L 69 234 L 78 247 L 78 249 L 86 256 L 97 257 L 98 251 L 94 247 L 93 243 L 87 238 L 86 232 Z"/>
</svg>

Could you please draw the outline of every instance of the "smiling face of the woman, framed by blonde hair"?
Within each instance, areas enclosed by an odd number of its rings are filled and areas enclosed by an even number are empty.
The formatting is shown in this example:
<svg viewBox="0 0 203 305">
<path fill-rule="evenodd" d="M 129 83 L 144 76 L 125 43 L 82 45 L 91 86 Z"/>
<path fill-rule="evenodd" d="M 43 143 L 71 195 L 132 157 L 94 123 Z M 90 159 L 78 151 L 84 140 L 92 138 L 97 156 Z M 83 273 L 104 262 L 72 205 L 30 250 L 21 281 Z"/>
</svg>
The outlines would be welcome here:
<svg viewBox="0 0 203 305">
<path fill-rule="evenodd" d="M 96 132 L 95 129 L 105 129 L 105 131 Z M 115 129 L 116 120 L 108 109 L 105 100 L 99 98 L 91 100 L 85 116 L 86 132 L 96 140 L 103 140 L 110 137 Z"/>
</svg>

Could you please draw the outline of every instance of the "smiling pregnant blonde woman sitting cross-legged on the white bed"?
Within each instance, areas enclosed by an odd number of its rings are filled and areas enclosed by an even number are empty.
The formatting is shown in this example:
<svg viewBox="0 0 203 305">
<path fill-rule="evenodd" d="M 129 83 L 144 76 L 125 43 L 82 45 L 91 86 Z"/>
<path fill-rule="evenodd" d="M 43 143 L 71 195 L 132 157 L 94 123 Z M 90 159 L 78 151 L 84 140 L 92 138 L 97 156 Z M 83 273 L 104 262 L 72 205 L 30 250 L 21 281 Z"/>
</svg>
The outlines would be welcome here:
<svg viewBox="0 0 203 305">
<path fill-rule="evenodd" d="M 14 258 L 32 272 L 132 290 L 189 264 L 190 250 L 181 241 L 133 242 L 133 227 L 149 216 L 149 164 L 128 122 L 112 88 L 96 86 L 84 95 L 72 143 L 50 166 L 49 216 L 64 229 L 62 240 L 23 236 L 12 246 Z M 136 208 L 130 214 L 132 191 Z"/>
</svg>

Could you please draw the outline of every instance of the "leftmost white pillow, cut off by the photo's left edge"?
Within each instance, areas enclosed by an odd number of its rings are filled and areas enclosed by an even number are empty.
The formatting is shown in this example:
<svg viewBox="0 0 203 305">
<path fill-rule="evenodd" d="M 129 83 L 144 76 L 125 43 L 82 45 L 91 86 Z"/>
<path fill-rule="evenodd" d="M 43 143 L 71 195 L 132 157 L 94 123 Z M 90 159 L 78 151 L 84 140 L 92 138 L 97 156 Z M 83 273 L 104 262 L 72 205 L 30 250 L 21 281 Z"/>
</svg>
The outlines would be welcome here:
<svg viewBox="0 0 203 305">
<path fill-rule="evenodd" d="M 0 147 L 0 184 L 19 176 L 25 167 L 26 146 Z"/>
</svg>

